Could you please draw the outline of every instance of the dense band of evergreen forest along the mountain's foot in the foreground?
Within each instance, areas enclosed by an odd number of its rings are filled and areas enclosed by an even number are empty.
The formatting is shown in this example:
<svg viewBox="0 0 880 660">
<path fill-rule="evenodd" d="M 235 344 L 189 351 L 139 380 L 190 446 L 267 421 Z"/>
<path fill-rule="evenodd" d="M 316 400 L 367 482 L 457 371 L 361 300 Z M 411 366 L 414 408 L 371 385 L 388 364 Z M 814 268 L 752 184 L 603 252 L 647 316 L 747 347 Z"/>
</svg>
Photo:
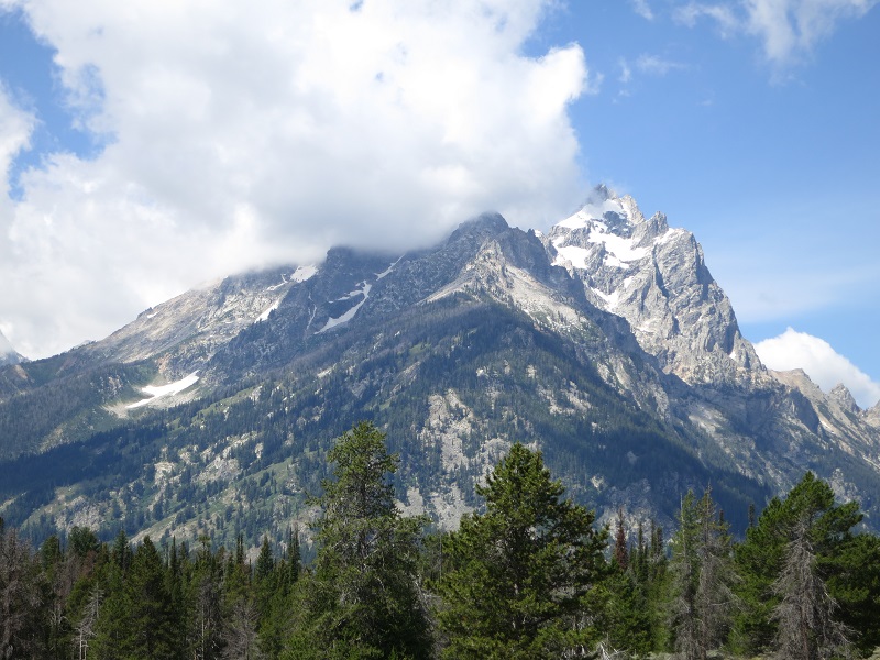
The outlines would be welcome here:
<svg viewBox="0 0 880 660">
<path fill-rule="evenodd" d="M 880 646 L 880 538 L 807 473 L 735 539 L 712 490 L 678 526 L 612 528 L 515 444 L 458 530 L 405 516 L 399 459 L 361 422 L 329 453 L 311 524 L 249 559 L 202 537 L 33 549 L 0 519 L 0 658 L 688 660 L 868 657 Z M 669 537 L 669 538 L 668 538 Z"/>
</svg>

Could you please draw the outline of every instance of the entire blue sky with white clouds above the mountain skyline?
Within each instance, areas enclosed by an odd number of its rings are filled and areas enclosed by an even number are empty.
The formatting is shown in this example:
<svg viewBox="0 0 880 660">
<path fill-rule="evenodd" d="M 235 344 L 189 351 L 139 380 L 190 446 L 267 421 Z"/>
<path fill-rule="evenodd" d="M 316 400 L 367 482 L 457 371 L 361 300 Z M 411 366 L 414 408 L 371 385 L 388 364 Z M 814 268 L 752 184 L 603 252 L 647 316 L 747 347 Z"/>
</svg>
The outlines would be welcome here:
<svg viewBox="0 0 880 660">
<path fill-rule="evenodd" d="M 880 399 L 880 0 L 0 0 L 0 332 L 30 359 L 200 283 L 605 183 L 747 339 Z"/>
</svg>

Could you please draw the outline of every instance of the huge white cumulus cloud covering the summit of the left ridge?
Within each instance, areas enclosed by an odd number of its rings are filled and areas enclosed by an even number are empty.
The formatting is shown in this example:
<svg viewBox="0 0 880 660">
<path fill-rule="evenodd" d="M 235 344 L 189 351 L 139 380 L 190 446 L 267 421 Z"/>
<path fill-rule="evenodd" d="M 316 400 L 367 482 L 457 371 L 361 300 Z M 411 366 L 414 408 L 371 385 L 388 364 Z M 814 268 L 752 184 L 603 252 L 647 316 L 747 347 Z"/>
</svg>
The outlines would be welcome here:
<svg viewBox="0 0 880 660">
<path fill-rule="evenodd" d="M 487 209 L 542 226 L 581 196 L 583 52 L 521 48 L 552 0 L 3 4 L 106 144 L 48 155 L 0 202 L 0 321 L 30 358 L 210 277 L 404 250 Z M 0 102 L 8 169 L 26 116 Z"/>
</svg>

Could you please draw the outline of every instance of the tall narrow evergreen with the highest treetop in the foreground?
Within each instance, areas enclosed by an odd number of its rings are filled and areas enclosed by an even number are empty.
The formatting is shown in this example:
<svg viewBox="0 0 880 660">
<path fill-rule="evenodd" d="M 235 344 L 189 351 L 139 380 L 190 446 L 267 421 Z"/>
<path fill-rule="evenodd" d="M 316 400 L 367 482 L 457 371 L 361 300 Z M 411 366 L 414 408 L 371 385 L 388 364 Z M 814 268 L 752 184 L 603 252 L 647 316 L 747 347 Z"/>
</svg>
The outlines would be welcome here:
<svg viewBox="0 0 880 660">
<path fill-rule="evenodd" d="M 402 517 L 385 481 L 398 459 L 385 436 L 361 422 L 328 454 L 319 542 L 308 594 L 307 639 L 290 657 L 430 657 L 427 614 L 416 584 L 425 520 Z"/>
</svg>

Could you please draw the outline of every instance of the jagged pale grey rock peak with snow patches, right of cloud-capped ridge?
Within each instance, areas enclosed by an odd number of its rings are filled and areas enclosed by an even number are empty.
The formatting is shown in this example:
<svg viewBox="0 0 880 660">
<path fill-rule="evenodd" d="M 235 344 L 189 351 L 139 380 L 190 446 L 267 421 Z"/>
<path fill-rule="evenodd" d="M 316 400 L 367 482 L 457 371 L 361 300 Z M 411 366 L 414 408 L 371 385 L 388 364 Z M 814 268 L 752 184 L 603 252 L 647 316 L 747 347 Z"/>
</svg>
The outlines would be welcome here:
<svg viewBox="0 0 880 660">
<path fill-rule="evenodd" d="M 697 384 L 736 382 L 761 369 L 703 249 L 662 213 L 646 219 L 631 197 L 598 187 L 546 244 L 597 307 L 629 322 L 667 373 Z"/>
</svg>

